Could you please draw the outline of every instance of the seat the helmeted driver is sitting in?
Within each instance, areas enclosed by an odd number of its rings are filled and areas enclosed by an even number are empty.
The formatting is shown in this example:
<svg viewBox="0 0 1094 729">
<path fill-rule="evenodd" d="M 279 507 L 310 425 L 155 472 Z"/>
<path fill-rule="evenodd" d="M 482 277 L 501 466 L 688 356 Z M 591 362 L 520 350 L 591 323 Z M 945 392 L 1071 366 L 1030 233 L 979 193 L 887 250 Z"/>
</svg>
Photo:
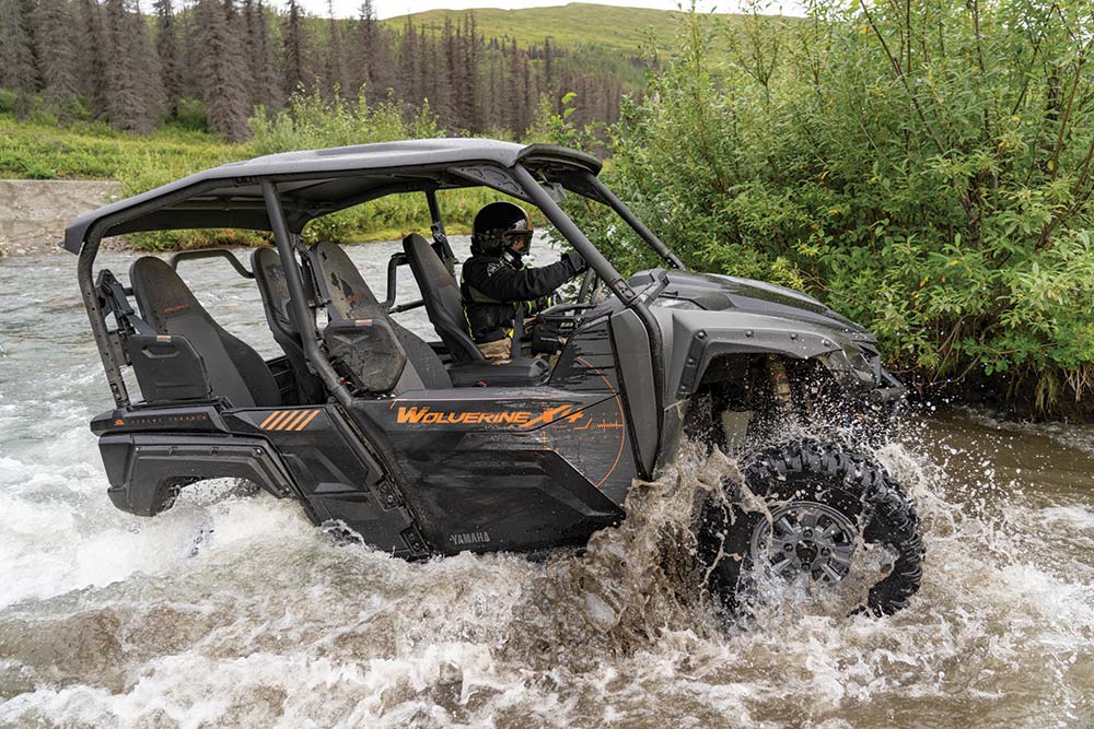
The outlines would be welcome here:
<svg viewBox="0 0 1094 729">
<path fill-rule="evenodd" d="M 417 233 L 403 239 L 410 270 L 429 320 L 449 348 L 455 364 L 449 369 L 452 383 L 463 385 L 521 386 L 542 385 L 550 374 L 549 365 L 538 358 L 517 358 L 502 363 L 487 362 L 467 333 L 459 284 L 432 246 Z"/>
</svg>

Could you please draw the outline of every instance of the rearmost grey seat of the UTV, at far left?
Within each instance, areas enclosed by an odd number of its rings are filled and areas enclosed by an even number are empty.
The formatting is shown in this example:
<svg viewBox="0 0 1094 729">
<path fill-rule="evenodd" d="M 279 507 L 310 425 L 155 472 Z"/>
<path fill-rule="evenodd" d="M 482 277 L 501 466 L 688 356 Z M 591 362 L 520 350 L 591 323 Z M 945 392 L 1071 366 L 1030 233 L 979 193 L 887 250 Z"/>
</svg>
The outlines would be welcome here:
<svg viewBox="0 0 1094 729">
<path fill-rule="evenodd" d="M 185 338 L 205 363 L 213 397 L 233 408 L 281 404 L 272 373 L 258 352 L 224 331 L 163 260 L 138 258 L 129 282 L 141 316 L 161 334 Z"/>
</svg>

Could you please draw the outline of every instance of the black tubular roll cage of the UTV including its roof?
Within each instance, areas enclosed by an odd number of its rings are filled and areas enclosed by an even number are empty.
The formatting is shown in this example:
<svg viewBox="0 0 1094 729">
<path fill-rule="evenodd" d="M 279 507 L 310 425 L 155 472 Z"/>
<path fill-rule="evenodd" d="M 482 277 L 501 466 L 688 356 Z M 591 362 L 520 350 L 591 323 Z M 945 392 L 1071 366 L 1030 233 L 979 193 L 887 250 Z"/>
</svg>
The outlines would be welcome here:
<svg viewBox="0 0 1094 729">
<path fill-rule="evenodd" d="M 292 152 L 223 165 L 133 198 L 107 205 L 75 221 L 63 247 L 79 255 L 78 279 L 115 403 L 130 402 L 123 379 L 118 332 L 110 331 L 109 307 L 94 278 L 94 261 L 104 237 L 158 230 L 234 227 L 269 231 L 286 273 L 290 316 L 302 333 L 304 354 L 330 395 L 342 405 L 352 400 L 319 346 L 321 336 L 309 311 L 296 254 L 300 233 L 312 220 L 393 193 L 422 192 L 429 203 L 434 237 L 444 225 L 437 192 L 486 186 L 535 204 L 555 228 L 589 261 L 596 275 L 642 322 L 650 342 L 656 412 L 664 402 L 662 332 L 650 303 L 666 285 L 652 283 L 635 292 L 609 260 L 566 214 L 556 200 L 559 188 L 601 202 L 616 212 L 665 261 L 684 269 L 670 250 L 597 177 L 600 162 L 552 145 L 522 146 L 489 140 L 422 140 L 352 148 Z M 212 254 L 216 255 L 216 254 Z M 394 302 L 386 302 L 391 306 Z"/>
</svg>

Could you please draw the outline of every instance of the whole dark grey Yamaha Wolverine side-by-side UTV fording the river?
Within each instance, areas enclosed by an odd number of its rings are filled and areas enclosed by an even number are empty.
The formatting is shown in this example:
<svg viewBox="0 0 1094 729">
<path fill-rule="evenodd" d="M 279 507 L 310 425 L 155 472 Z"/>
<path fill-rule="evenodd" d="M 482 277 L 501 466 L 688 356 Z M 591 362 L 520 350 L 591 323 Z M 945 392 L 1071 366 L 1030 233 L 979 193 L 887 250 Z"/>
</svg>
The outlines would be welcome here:
<svg viewBox="0 0 1094 729">
<path fill-rule="evenodd" d="M 851 420 L 899 399 L 874 339 L 805 294 L 688 271 L 600 169 L 539 144 L 365 144 L 226 164 L 75 221 L 63 245 L 79 255 L 114 396 L 92 422 L 114 504 L 153 516 L 187 484 L 237 478 L 399 557 L 580 546 L 625 518 L 632 481 L 654 478 L 686 435 L 742 463 L 743 484 L 696 517 L 725 604 L 756 569 L 835 583 L 875 545 L 888 569 L 863 607 L 905 607 L 922 560 L 907 494 L 835 439 L 772 435 L 807 423 L 822 399 Z M 535 346 L 517 338 L 500 364 L 470 339 L 444 235 L 438 193 L 464 187 L 538 208 L 591 267 L 575 301 L 522 327 Z M 408 192 L 428 201 L 430 237 L 404 239 L 384 298 L 339 246 L 304 243 L 317 217 Z M 664 268 L 621 275 L 563 212 L 567 193 L 614 211 Z M 138 258 L 128 281 L 95 269 L 105 237 L 209 227 L 269 232 L 276 247 L 249 268 L 219 250 Z M 264 360 L 210 316 L 176 272 L 195 255 L 254 279 L 283 356 Z M 396 303 L 401 266 L 420 301 Z M 399 325 L 412 306 L 438 341 Z"/>
</svg>

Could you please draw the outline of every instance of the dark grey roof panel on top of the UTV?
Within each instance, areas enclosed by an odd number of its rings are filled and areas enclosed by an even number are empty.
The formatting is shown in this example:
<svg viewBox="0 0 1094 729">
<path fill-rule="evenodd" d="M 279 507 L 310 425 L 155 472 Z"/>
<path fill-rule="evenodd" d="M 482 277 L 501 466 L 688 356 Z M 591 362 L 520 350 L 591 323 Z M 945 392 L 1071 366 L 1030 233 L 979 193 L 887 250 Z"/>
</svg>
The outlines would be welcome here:
<svg viewBox="0 0 1094 729">
<path fill-rule="evenodd" d="M 477 165 L 533 172 L 600 173 L 596 157 L 563 146 L 489 139 L 427 139 L 286 152 L 206 169 L 79 217 L 65 231 L 65 249 L 80 252 L 89 237 L 199 227 L 270 230 L 264 179 L 278 183 L 286 222 L 299 232 L 321 215 L 394 192 L 491 185 Z M 516 192 L 519 190 L 509 190 Z"/>
</svg>

